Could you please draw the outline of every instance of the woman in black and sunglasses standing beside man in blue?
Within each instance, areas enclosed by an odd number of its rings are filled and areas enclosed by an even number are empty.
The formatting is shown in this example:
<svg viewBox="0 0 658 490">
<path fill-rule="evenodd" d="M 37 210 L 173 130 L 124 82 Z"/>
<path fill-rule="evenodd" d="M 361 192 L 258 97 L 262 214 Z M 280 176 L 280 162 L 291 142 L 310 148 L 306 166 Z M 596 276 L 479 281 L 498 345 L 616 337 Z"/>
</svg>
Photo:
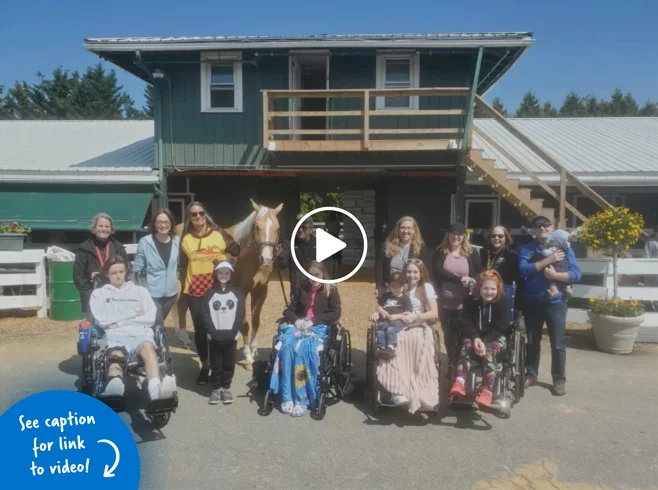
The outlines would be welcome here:
<svg viewBox="0 0 658 490">
<path fill-rule="evenodd" d="M 521 273 L 519 272 L 519 254 L 512 249 L 512 237 L 504 226 L 495 226 L 482 249 L 482 268 L 498 272 L 503 280 L 504 293 L 507 301 L 510 301 L 514 293 L 514 284 L 518 289 L 515 295 L 515 304 L 510 307 L 519 309 L 522 294 Z"/>
</svg>

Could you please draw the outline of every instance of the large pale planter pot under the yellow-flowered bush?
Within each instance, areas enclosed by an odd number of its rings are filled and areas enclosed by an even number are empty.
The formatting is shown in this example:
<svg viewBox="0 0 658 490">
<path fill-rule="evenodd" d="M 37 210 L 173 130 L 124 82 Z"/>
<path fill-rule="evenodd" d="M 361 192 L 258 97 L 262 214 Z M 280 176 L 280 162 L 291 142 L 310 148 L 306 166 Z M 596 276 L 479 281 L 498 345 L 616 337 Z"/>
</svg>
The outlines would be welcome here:
<svg viewBox="0 0 658 490">
<path fill-rule="evenodd" d="M 590 313 L 596 347 L 611 354 L 633 352 L 635 338 L 644 321 L 644 315 L 633 317 L 608 316 Z"/>
</svg>

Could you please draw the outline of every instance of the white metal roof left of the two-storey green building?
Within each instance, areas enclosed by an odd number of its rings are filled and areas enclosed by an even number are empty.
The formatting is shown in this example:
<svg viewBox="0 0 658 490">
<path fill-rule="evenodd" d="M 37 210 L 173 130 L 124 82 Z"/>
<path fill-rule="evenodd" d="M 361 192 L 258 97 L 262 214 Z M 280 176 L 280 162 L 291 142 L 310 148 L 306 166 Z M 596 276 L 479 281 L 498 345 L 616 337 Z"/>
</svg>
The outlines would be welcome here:
<svg viewBox="0 0 658 490">
<path fill-rule="evenodd" d="M 150 172 L 153 131 L 153 121 L 0 121 L 0 174 Z"/>
</svg>

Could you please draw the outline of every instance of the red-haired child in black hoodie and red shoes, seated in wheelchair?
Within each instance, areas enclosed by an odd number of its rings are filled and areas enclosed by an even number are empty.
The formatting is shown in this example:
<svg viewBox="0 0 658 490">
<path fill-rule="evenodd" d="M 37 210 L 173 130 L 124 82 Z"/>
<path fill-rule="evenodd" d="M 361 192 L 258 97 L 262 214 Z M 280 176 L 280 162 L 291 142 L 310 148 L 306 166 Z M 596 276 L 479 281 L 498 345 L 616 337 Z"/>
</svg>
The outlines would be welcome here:
<svg viewBox="0 0 658 490">
<path fill-rule="evenodd" d="M 492 407 L 498 375 L 497 356 L 505 347 L 510 308 L 503 294 L 503 281 L 494 270 L 480 274 L 473 293 L 459 320 L 461 345 L 450 396 L 459 399 L 467 395 L 466 379 L 473 363 L 477 362 L 483 375 L 482 389 L 475 402 L 480 407 Z"/>
</svg>

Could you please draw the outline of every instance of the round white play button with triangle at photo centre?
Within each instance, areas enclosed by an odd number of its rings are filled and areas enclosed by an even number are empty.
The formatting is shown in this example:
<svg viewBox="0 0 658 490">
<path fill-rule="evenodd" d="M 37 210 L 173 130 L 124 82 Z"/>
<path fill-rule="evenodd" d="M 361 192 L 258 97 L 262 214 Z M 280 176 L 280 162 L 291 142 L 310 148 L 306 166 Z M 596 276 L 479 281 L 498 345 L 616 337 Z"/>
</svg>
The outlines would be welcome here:
<svg viewBox="0 0 658 490">
<path fill-rule="evenodd" d="M 359 259 L 359 263 L 357 266 L 352 269 L 350 273 L 343 277 L 339 278 L 334 278 L 334 279 L 319 279 L 317 277 L 313 277 L 311 274 L 306 271 L 301 264 L 299 263 L 299 259 L 297 258 L 297 253 L 295 252 L 295 247 L 291 247 L 291 255 L 292 255 L 292 260 L 295 263 L 295 266 L 297 267 L 297 270 L 299 270 L 302 274 L 304 274 L 306 277 L 309 279 L 312 279 L 314 281 L 321 282 L 323 284 L 337 284 L 342 281 L 346 281 L 350 277 L 352 277 L 354 274 L 356 274 L 363 263 L 366 260 L 366 255 L 368 253 L 368 238 L 366 236 L 366 230 L 363 228 L 363 225 L 359 222 L 358 219 L 356 219 L 356 216 L 354 216 L 352 213 L 349 211 L 345 211 L 344 209 L 341 208 L 335 208 L 333 206 L 326 206 L 322 208 L 317 208 L 314 209 L 313 211 L 306 213 L 302 219 L 300 219 L 297 224 L 295 225 L 295 228 L 292 231 L 292 236 L 290 237 L 290 243 L 295 242 L 295 237 L 297 236 L 297 232 L 299 231 L 299 228 L 307 222 L 307 220 L 313 216 L 314 214 L 317 213 L 322 213 L 322 212 L 330 212 L 330 211 L 335 211 L 337 213 L 345 215 L 347 218 L 351 219 L 354 221 L 356 224 L 357 228 L 361 232 L 361 238 L 363 240 L 363 248 L 361 249 L 361 258 Z M 330 235 L 326 231 L 322 229 L 316 229 L 315 230 L 315 261 L 316 262 L 323 262 L 327 258 L 331 257 L 332 255 L 340 252 L 344 248 L 347 247 L 347 244 L 343 242 L 342 240 L 339 240 L 338 238 L 334 237 L 333 235 Z"/>
</svg>

